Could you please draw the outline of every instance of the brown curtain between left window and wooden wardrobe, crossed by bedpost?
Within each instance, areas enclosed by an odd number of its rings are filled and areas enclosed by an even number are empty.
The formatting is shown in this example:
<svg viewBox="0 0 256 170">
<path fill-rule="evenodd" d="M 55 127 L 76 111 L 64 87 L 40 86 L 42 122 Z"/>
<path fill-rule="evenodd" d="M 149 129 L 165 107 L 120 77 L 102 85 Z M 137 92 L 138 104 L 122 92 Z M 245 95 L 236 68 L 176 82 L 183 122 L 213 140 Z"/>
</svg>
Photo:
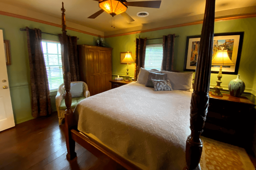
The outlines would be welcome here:
<svg viewBox="0 0 256 170">
<path fill-rule="evenodd" d="M 63 64 L 63 35 L 59 34 L 59 42 L 61 43 L 61 58 Z M 67 47 L 69 52 L 69 64 L 70 64 L 70 74 L 71 82 L 80 81 L 79 76 L 79 66 L 78 66 L 78 56 L 77 56 L 77 37 L 67 36 Z"/>
</svg>

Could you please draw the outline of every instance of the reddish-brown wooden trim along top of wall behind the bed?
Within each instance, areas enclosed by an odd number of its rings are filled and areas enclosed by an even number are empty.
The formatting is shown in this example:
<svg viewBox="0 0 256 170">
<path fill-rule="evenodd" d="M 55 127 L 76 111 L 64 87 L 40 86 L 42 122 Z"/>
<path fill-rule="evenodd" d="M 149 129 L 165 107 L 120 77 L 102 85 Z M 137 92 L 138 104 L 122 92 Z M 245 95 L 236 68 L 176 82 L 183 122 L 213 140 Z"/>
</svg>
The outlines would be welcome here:
<svg viewBox="0 0 256 170">
<path fill-rule="evenodd" d="M 256 17 L 256 14 L 236 16 L 236 17 L 217 18 L 217 19 L 215 19 L 215 22 L 228 21 L 228 20 L 233 20 L 233 19 L 253 18 L 253 17 Z M 128 33 L 124 33 L 124 34 L 108 35 L 108 36 L 104 36 L 104 38 L 111 38 L 111 37 L 115 37 L 115 36 L 123 36 L 123 35 L 138 34 L 138 33 L 143 33 L 143 32 L 171 29 L 171 28 L 176 28 L 176 27 L 184 27 L 184 26 L 197 25 L 197 24 L 202 24 L 202 23 L 203 23 L 203 21 L 183 23 L 183 24 L 178 24 L 178 25 L 171 25 L 171 26 L 159 27 L 159 28 L 142 30 L 142 31 L 128 32 Z"/>
</svg>

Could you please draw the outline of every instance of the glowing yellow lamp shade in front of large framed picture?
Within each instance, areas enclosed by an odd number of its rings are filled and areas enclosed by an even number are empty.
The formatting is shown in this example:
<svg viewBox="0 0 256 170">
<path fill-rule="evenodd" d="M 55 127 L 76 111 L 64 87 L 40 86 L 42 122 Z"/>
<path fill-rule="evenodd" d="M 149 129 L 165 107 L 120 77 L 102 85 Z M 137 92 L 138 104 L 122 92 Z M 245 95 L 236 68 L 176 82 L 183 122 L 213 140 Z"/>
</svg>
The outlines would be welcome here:
<svg viewBox="0 0 256 170">
<path fill-rule="evenodd" d="M 234 66 L 235 64 L 228 57 L 227 50 L 218 50 L 216 55 L 211 61 L 214 66 Z"/>
</svg>

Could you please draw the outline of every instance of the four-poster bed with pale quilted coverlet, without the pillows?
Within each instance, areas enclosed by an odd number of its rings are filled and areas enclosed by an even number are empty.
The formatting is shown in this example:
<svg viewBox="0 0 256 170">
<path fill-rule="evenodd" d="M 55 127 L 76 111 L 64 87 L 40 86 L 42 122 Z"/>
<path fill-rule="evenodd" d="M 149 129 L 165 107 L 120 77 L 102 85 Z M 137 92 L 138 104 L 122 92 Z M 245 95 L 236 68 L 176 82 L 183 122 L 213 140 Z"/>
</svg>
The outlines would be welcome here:
<svg viewBox="0 0 256 170">
<path fill-rule="evenodd" d="M 84 99 L 78 104 L 75 114 L 71 109 L 63 3 L 61 11 L 67 159 L 72 160 L 77 156 L 76 141 L 91 153 L 104 154 L 130 170 L 201 169 L 199 162 L 203 143 L 200 135 L 208 112 L 215 0 L 206 0 L 192 94 L 184 91 L 153 94 L 148 87 L 130 83 Z M 136 96 L 132 96 L 132 93 Z M 123 105 L 125 109 L 116 108 L 115 103 Z M 152 108 L 156 103 L 160 107 Z M 109 143 L 103 143 L 104 139 Z M 123 146 L 126 147 L 122 150 Z"/>
</svg>

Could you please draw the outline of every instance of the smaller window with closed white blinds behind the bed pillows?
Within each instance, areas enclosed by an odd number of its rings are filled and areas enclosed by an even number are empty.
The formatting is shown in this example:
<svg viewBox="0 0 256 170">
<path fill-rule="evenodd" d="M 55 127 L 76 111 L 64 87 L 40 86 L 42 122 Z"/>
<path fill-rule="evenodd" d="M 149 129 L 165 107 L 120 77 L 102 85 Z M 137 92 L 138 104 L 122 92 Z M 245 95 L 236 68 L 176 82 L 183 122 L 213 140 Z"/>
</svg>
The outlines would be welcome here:
<svg viewBox="0 0 256 170">
<path fill-rule="evenodd" d="M 146 45 L 145 69 L 161 70 L 162 60 L 163 60 L 162 44 Z"/>
</svg>

